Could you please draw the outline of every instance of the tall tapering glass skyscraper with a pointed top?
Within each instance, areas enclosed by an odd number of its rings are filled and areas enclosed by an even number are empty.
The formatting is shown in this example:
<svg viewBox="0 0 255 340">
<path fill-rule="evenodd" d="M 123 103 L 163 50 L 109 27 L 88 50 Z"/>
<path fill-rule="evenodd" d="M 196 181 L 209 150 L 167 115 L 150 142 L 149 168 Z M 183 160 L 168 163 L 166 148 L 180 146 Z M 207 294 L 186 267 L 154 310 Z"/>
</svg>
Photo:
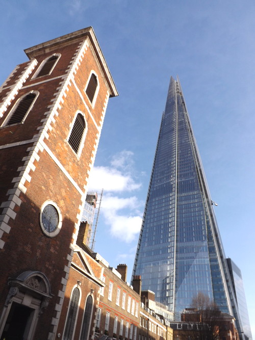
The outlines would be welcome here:
<svg viewBox="0 0 255 340">
<path fill-rule="evenodd" d="M 171 77 L 133 275 L 176 320 L 198 292 L 238 319 L 213 203 L 180 81 Z"/>
</svg>

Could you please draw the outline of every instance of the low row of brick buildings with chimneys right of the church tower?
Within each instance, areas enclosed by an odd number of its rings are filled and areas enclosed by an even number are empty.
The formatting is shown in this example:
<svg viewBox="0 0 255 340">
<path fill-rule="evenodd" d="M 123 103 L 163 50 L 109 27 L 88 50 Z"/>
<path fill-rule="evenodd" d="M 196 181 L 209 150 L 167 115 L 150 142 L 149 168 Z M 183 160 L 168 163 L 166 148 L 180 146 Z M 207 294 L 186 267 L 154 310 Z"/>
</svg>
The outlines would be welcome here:
<svg viewBox="0 0 255 340">
<path fill-rule="evenodd" d="M 155 306 L 154 295 L 141 299 L 141 277 L 126 282 L 127 266 L 117 268 L 86 245 L 86 223 L 80 227 L 67 280 L 57 334 L 67 339 L 172 340 L 165 318 Z M 151 300 L 151 301 L 150 301 Z"/>
</svg>

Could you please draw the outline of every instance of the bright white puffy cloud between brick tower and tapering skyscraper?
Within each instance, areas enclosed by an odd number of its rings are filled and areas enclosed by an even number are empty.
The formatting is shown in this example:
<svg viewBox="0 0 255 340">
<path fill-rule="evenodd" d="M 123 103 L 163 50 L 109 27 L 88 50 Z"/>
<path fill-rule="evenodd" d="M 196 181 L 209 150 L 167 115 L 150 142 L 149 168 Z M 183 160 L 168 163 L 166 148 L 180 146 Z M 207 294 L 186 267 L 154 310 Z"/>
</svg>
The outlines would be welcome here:
<svg viewBox="0 0 255 340">
<path fill-rule="evenodd" d="M 110 167 L 94 167 L 89 182 L 93 191 L 100 192 L 104 188 L 101 217 L 110 226 L 111 236 L 126 243 L 132 242 L 140 232 L 141 207 L 144 205 L 134 195 L 123 197 L 141 187 L 134 179 L 133 155 L 133 152 L 126 150 L 115 154 Z"/>
</svg>

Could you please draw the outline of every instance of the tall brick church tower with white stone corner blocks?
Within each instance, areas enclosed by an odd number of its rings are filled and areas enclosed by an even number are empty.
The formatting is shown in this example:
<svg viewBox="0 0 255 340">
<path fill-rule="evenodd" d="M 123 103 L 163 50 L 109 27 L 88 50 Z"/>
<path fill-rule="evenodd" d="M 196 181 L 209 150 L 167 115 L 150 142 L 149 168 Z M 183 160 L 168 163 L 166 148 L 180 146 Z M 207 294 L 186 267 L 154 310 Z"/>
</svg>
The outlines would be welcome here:
<svg viewBox="0 0 255 340">
<path fill-rule="evenodd" d="M 54 339 L 109 97 L 92 28 L 28 48 L 0 88 L 0 339 Z"/>
</svg>

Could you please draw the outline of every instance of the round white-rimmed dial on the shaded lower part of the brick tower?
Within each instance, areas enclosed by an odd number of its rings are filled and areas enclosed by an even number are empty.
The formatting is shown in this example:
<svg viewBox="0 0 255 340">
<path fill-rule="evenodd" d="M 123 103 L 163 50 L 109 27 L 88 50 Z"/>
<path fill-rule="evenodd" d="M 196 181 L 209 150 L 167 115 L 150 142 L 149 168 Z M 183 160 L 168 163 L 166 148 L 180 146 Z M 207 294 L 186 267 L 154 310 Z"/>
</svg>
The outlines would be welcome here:
<svg viewBox="0 0 255 340">
<path fill-rule="evenodd" d="M 46 201 L 41 207 L 40 225 L 43 233 L 48 237 L 56 236 L 62 226 L 62 216 L 58 205 L 53 201 Z"/>
</svg>

